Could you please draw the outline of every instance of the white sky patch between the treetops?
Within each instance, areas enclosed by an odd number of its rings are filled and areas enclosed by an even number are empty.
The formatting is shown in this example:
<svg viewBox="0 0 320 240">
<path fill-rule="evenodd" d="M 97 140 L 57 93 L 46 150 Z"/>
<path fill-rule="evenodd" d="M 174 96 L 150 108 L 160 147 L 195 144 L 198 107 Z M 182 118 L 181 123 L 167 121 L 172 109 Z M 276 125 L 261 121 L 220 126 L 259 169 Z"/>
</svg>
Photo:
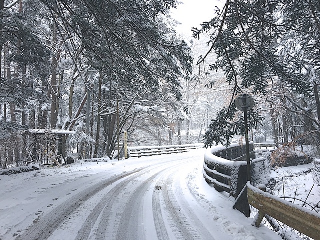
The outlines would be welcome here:
<svg viewBox="0 0 320 240">
<path fill-rule="evenodd" d="M 176 9 L 171 9 L 172 17 L 179 21 L 181 25 L 177 27 L 177 32 L 191 36 L 192 27 L 200 27 L 203 21 L 211 20 L 215 6 L 224 3 L 224 0 L 180 0 L 184 4 L 177 5 Z"/>
</svg>

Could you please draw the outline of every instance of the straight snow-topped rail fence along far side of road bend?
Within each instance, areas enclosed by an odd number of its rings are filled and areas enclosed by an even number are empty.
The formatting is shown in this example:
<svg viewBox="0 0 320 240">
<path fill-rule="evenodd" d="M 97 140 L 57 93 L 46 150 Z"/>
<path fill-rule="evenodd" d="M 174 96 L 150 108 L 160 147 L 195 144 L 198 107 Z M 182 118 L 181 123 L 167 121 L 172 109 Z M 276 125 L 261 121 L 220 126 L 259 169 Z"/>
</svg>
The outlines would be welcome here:
<svg viewBox="0 0 320 240">
<path fill-rule="evenodd" d="M 166 145 L 166 146 L 136 146 L 128 147 L 131 157 L 152 156 L 186 152 L 192 149 L 202 148 L 204 144 Z"/>
</svg>

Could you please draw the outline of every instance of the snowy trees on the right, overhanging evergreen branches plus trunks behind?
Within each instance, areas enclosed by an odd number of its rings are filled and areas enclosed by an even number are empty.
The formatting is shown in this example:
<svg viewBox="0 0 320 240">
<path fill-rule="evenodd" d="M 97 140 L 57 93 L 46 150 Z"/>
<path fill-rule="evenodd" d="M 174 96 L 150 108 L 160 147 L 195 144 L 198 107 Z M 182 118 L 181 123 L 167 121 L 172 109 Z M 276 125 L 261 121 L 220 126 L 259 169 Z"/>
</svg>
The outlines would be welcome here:
<svg viewBox="0 0 320 240">
<path fill-rule="evenodd" d="M 205 134 L 207 146 L 228 144 L 243 132 L 243 119 L 233 101 L 241 92 L 255 95 L 257 107 L 269 109 L 276 143 L 300 135 L 303 141 L 318 144 L 313 86 L 319 83 L 319 18 L 320 4 L 315 0 L 226 0 L 211 21 L 193 29 L 195 38 L 211 31 L 210 48 L 199 62 L 216 52 L 210 68 L 222 69 L 233 87 L 229 105 Z M 262 120 L 251 111 L 252 126 Z"/>
</svg>

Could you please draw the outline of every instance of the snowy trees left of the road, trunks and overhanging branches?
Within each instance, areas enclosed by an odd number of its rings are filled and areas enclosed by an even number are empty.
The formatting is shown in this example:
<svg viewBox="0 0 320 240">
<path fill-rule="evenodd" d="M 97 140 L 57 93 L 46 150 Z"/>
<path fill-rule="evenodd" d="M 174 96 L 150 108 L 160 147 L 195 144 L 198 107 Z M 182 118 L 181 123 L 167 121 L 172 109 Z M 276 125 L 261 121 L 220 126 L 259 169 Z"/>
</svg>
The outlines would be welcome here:
<svg viewBox="0 0 320 240">
<path fill-rule="evenodd" d="M 190 77 L 192 58 L 166 20 L 174 6 L 172 0 L 5 1 L 1 120 L 10 113 L 11 135 L 21 134 L 22 125 L 75 130 L 79 157 L 111 156 L 117 127 L 131 134 L 141 114 L 156 115 L 157 104 L 164 109 L 167 99 L 181 99 L 179 79 Z M 32 98 L 6 97 L 19 84 L 35 92 Z M 8 139 L 9 126 L 1 127 Z M 8 146 L 1 146 L 6 159 Z"/>
</svg>

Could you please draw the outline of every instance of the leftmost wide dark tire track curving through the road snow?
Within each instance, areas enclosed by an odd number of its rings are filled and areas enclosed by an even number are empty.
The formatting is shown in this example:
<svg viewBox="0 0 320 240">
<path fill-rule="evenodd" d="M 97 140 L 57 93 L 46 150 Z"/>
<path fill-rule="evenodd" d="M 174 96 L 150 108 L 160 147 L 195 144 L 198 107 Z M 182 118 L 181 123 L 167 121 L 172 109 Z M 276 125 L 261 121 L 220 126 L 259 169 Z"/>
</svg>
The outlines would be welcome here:
<svg viewBox="0 0 320 240">
<path fill-rule="evenodd" d="M 79 192 L 74 197 L 58 205 L 55 209 L 46 214 L 38 223 L 28 227 L 23 234 L 17 236 L 17 239 L 46 240 L 60 225 L 60 223 L 71 215 L 86 200 L 112 183 L 122 179 L 123 177 L 137 173 L 142 169 L 144 168 L 108 178 Z"/>
</svg>

